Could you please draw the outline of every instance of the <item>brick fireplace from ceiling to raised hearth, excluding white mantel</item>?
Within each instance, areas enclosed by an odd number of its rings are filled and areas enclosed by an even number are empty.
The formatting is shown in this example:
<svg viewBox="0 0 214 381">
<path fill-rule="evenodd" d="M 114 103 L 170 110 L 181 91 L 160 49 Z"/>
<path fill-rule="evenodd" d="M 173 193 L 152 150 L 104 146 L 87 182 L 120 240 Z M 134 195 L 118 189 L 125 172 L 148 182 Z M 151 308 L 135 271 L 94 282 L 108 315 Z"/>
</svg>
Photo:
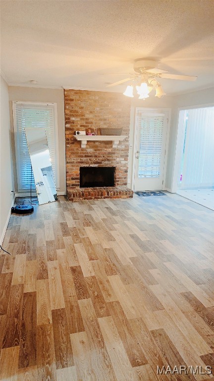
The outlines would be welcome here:
<svg viewBox="0 0 214 381">
<path fill-rule="evenodd" d="M 133 192 L 127 188 L 130 99 L 122 94 L 64 90 L 65 104 L 65 146 L 66 146 L 66 193 L 70 201 L 97 198 L 129 198 Z M 112 141 L 88 141 L 81 148 L 80 141 L 73 136 L 76 130 L 87 128 L 122 128 L 127 137 L 112 148 Z M 80 187 L 80 172 L 89 167 L 86 183 Z M 91 170 L 103 167 L 103 171 Z M 81 168 L 81 169 L 80 169 Z M 113 168 L 114 185 L 102 186 L 107 171 Z M 97 186 L 90 187 L 95 174 L 100 177 Z M 91 175 L 90 177 L 90 174 Z M 89 180 L 90 179 L 90 180 Z M 84 187 L 84 184 L 87 186 Z"/>
</svg>

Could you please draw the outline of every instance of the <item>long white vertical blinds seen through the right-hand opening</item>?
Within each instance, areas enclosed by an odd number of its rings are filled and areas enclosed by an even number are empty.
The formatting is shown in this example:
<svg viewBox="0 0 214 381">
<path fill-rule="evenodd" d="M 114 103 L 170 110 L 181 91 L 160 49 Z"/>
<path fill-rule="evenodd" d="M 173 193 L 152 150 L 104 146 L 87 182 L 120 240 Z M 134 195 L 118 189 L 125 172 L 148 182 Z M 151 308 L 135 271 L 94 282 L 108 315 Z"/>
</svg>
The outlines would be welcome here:
<svg viewBox="0 0 214 381">
<path fill-rule="evenodd" d="M 184 113 L 178 186 L 180 189 L 214 186 L 213 107 L 186 110 Z"/>
</svg>

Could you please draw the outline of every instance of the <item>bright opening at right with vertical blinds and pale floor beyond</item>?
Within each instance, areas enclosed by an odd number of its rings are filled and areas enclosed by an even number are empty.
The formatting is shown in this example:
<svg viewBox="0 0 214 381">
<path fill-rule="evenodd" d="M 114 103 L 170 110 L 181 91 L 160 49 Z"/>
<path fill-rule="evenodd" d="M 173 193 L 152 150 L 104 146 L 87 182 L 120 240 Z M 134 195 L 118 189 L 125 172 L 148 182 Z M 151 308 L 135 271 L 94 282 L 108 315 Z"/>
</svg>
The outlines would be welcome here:
<svg viewBox="0 0 214 381">
<path fill-rule="evenodd" d="M 214 210 L 214 107 L 182 110 L 177 193 Z"/>
</svg>

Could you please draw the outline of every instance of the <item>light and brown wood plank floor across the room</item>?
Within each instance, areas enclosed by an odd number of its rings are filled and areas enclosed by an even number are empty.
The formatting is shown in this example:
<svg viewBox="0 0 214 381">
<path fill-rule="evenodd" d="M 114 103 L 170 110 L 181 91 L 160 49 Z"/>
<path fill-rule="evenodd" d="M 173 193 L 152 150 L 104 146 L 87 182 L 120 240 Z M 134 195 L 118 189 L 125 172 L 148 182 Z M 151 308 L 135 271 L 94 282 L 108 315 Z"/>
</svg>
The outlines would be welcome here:
<svg viewBox="0 0 214 381">
<path fill-rule="evenodd" d="M 0 251 L 0 381 L 208 381 L 214 212 L 175 194 L 13 214 Z M 205 373 L 205 372 L 204 372 Z"/>
</svg>

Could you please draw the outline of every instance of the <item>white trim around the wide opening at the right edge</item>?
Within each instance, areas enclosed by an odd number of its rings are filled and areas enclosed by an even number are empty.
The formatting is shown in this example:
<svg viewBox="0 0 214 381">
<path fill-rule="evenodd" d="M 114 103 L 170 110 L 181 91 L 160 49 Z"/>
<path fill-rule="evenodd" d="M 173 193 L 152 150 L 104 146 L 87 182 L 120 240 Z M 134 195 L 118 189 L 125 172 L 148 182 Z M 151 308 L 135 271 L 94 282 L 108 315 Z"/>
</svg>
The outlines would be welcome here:
<svg viewBox="0 0 214 381">
<path fill-rule="evenodd" d="M 202 105 L 184 106 L 177 109 L 176 118 L 176 143 L 175 143 L 175 153 L 174 153 L 174 163 L 172 169 L 172 183 L 171 183 L 171 193 L 176 193 L 178 190 L 177 179 L 179 176 L 180 160 L 181 160 L 181 145 L 182 145 L 182 135 L 183 135 L 183 122 L 179 121 L 180 111 L 192 110 L 192 109 L 202 109 L 206 107 L 214 107 L 214 103 L 206 103 Z"/>
</svg>

